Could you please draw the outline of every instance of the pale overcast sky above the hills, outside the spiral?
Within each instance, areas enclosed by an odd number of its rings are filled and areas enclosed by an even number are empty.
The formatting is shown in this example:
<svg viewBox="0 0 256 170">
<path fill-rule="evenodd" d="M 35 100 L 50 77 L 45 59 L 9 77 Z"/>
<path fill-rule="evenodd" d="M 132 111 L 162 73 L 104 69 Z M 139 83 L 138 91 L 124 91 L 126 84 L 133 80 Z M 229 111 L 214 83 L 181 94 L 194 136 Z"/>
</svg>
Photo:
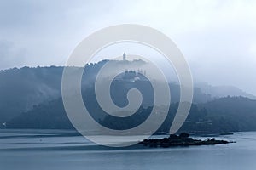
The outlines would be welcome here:
<svg viewBox="0 0 256 170">
<path fill-rule="evenodd" d="M 65 65 L 104 27 L 153 27 L 180 48 L 195 81 L 256 95 L 256 1 L 0 0 L 0 70 Z"/>
</svg>

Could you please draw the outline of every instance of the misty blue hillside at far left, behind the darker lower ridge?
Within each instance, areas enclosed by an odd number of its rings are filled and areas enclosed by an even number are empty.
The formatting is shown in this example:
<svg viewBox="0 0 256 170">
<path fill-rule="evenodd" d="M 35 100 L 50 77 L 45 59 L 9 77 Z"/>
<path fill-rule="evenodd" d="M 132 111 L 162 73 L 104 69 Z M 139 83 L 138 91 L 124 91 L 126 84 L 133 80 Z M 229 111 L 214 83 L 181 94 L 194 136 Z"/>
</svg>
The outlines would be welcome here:
<svg viewBox="0 0 256 170">
<path fill-rule="evenodd" d="M 0 122 L 61 96 L 62 67 L 0 71 Z"/>
</svg>

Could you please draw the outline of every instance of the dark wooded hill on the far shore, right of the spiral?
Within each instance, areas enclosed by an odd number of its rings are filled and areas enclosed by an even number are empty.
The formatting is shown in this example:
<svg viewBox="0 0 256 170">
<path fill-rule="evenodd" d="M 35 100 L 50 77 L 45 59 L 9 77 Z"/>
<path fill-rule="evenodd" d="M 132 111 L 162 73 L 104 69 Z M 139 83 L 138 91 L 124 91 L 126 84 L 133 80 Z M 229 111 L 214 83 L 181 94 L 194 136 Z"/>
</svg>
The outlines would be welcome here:
<svg viewBox="0 0 256 170">
<path fill-rule="evenodd" d="M 203 115 L 191 112 L 181 131 L 226 133 L 256 130 L 256 100 L 225 97 L 197 105 Z"/>
</svg>

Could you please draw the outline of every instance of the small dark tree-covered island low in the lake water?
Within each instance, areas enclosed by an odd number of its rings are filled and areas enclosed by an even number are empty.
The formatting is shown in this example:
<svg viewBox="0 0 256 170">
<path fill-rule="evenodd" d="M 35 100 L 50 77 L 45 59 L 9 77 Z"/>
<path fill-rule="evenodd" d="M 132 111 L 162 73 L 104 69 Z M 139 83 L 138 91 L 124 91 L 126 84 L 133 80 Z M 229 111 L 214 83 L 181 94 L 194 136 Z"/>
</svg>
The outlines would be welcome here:
<svg viewBox="0 0 256 170">
<path fill-rule="evenodd" d="M 213 145 L 213 144 L 229 144 L 233 141 L 217 140 L 217 139 L 192 139 L 189 138 L 189 133 L 180 133 L 180 135 L 171 134 L 168 138 L 164 139 L 144 139 L 139 144 L 149 147 L 175 147 L 175 146 L 189 146 L 189 145 Z"/>
</svg>

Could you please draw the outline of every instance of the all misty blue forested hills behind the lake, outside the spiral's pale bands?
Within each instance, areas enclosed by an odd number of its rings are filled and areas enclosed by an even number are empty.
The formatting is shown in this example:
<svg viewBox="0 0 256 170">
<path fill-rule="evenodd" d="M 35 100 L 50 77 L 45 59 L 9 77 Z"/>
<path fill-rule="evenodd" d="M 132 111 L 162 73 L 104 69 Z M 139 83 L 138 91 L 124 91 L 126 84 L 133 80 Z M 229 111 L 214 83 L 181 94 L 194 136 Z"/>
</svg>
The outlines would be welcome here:
<svg viewBox="0 0 256 170">
<path fill-rule="evenodd" d="M 127 105 L 125 95 L 131 88 L 143 94 L 143 104 L 137 113 L 129 118 L 109 116 L 97 104 L 94 82 L 97 72 L 108 60 L 86 65 L 82 79 L 84 104 L 93 113 L 91 116 L 105 127 L 127 129 L 145 121 L 152 111 L 154 95 L 152 87 L 143 74 L 126 71 L 113 81 L 110 89 L 116 105 Z M 110 61 L 122 67 L 120 61 Z M 130 61 L 125 65 L 144 65 L 141 60 Z M 79 71 L 82 68 L 73 68 Z M 58 128 L 72 129 L 61 100 L 61 75 L 63 67 L 23 67 L 0 71 L 0 128 Z M 134 81 L 134 75 L 143 81 Z M 132 81 L 131 81 L 132 79 Z M 121 81 L 120 81 L 121 80 Z M 201 87 L 201 88 L 199 88 Z M 179 85 L 170 82 L 172 103 L 166 121 L 157 133 L 167 133 L 177 111 Z M 219 89 L 219 90 L 218 90 Z M 209 92 L 209 93 L 207 93 Z M 219 95 L 218 95 L 219 94 Z M 220 94 L 230 94 L 223 97 Z M 236 95 L 236 96 L 235 96 Z M 243 96 L 243 97 L 242 97 Z M 217 88 L 201 84 L 194 89 L 193 105 L 189 117 L 180 129 L 188 133 L 225 133 L 256 130 L 256 100 L 238 88 Z M 160 106 L 159 106 L 160 107 Z"/>
</svg>

